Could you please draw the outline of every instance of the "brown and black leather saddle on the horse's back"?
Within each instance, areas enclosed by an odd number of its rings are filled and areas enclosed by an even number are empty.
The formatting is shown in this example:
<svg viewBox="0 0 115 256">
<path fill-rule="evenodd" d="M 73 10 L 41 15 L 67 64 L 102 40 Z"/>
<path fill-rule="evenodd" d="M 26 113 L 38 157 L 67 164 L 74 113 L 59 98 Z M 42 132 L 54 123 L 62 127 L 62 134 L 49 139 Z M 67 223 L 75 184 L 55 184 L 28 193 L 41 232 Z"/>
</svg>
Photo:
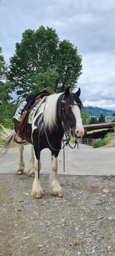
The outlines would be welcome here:
<svg viewBox="0 0 115 256">
<path fill-rule="evenodd" d="M 45 96 L 49 96 L 51 93 L 47 92 L 46 89 L 44 89 L 42 92 L 39 93 L 35 93 L 35 94 L 31 94 L 28 95 L 26 97 L 26 105 L 24 106 L 24 108 L 22 109 L 21 113 L 20 113 L 20 128 L 16 133 L 15 136 L 15 142 L 18 144 L 22 144 L 24 142 L 27 141 L 27 136 L 28 136 L 28 116 L 31 112 L 31 110 L 33 109 L 33 107 L 35 107 L 35 105 Z M 18 137 L 20 136 L 20 138 L 22 138 L 22 141 L 19 142 L 18 141 Z"/>
</svg>

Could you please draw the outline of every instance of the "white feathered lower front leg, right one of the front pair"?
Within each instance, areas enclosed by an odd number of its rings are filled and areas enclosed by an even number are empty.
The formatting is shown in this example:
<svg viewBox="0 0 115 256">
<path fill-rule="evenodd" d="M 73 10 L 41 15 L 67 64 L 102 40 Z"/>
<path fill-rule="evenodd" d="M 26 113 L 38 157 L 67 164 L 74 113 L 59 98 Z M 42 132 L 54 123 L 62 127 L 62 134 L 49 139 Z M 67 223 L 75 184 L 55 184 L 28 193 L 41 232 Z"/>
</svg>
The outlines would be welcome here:
<svg viewBox="0 0 115 256">
<path fill-rule="evenodd" d="M 50 192 L 54 196 L 62 197 L 63 190 L 61 189 L 58 182 L 57 171 L 58 171 L 58 156 L 56 157 L 52 153 L 51 172 L 50 172 Z"/>
</svg>

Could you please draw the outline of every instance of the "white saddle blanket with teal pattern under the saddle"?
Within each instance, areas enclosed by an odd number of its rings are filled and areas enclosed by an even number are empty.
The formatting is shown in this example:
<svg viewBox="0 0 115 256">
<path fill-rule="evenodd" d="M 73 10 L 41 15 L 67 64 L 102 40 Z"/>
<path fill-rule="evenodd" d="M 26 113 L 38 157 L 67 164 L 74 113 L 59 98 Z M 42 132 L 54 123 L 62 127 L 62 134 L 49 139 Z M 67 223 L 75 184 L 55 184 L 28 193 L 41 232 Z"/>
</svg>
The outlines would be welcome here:
<svg viewBox="0 0 115 256">
<path fill-rule="evenodd" d="M 37 101 L 36 105 L 30 109 L 30 114 L 28 116 L 28 123 L 32 123 L 33 121 L 33 118 L 35 116 L 35 113 L 37 111 L 37 109 L 39 108 L 39 106 L 41 105 L 41 103 L 43 103 L 45 100 L 46 100 L 47 96 L 43 97 L 42 99 L 39 100 L 39 102 Z M 18 121 L 22 121 L 22 116 L 20 116 L 20 113 L 22 111 L 22 109 L 24 108 L 24 106 L 26 105 L 26 101 L 23 101 L 20 106 L 17 108 L 16 112 L 15 112 L 15 115 L 13 118 L 17 119 Z"/>
</svg>

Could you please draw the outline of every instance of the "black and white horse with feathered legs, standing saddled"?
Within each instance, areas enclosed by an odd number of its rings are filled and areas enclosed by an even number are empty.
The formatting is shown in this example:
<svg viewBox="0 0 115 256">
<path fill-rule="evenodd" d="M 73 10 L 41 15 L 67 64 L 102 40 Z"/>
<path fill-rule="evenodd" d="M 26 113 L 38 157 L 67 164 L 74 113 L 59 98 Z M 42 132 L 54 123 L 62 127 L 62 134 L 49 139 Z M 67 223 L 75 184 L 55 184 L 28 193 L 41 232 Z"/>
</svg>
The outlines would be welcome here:
<svg viewBox="0 0 115 256">
<path fill-rule="evenodd" d="M 66 88 L 64 93 L 49 95 L 45 102 L 38 108 L 35 117 L 33 118 L 30 132 L 32 136 L 32 157 L 30 160 L 28 175 L 34 177 L 31 195 L 36 198 L 41 198 L 43 189 L 38 179 L 38 169 L 41 169 L 40 152 L 44 148 L 49 148 L 51 156 L 51 172 L 50 172 L 50 192 L 51 194 L 61 197 L 63 191 L 59 185 L 57 178 L 58 170 L 58 154 L 61 149 L 61 140 L 64 134 L 63 124 L 66 122 L 72 132 L 72 136 L 81 137 L 84 134 L 82 125 L 82 119 L 80 115 L 80 109 L 82 108 L 82 102 L 79 98 L 80 88 L 76 93 L 72 93 L 69 87 Z M 43 124 L 44 120 L 44 124 Z M 15 131 L 17 128 L 17 120 L 15 120 Z M 45 125 L 45 126 L 44 126 Z M 46 127 L 46 133 L 45 133 Z M 46 134 L 49 140 L 46 139 Z M 40 135 L 40 136 L 39 136 Z M 14 139 L 15 134 L 7 141 L 7 145 L 11 144 L 11 140 Z M 21 141 L 21 138 L 19 138 Z M 39 143 L 38 143 L 39 141 Z M 51 145 L 51 147 L 50 147 Z M 7 148 L 7 146 L 6 146 Z M 53 149 L 52 149 L 53 148 Z M 4 147 L 5 149 L 5 147 Z M 57 150 L 56 150 L 57 149 Z M 24 158 L 23 151 L 24 145 L 19 144 L 20 159 L 17 165 L 17 174 L 23 174 L 24 172 Z M 39 151 L 39 152 L 38 152 Z M 39 156 L 39 159 L 38 159 Z M 38 168 L 39 163 L 39 168 Z"/>
</svg>

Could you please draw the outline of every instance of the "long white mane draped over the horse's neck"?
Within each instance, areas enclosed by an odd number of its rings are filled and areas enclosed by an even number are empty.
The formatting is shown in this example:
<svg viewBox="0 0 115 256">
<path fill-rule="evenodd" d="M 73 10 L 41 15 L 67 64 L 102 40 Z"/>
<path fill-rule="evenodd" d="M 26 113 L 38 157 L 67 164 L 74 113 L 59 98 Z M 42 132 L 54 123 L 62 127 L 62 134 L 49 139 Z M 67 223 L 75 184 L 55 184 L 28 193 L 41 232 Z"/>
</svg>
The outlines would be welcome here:
<svg viewBox="0 0 115 256">
<path fill-rule="evenodd" d="M 57 101 L 61 94 L 63 93 L 57 93 L 57 94 L 52 94 L 48 96 L 45 102 L 41 104 L 40 108 L 38 109 L 37 115 L 33 120 L 35 121 L 35 119 L 44 112 L 45 126 L 50 132 L 57 128 L 56 107 L 57 107 Z M 41 118 L 42 118 L 42 115 L 39 118 L 38 127 L 41 122 Z M 43 130 L 43 124 L 41 126 L 41 129 Z"/>
</svg>

